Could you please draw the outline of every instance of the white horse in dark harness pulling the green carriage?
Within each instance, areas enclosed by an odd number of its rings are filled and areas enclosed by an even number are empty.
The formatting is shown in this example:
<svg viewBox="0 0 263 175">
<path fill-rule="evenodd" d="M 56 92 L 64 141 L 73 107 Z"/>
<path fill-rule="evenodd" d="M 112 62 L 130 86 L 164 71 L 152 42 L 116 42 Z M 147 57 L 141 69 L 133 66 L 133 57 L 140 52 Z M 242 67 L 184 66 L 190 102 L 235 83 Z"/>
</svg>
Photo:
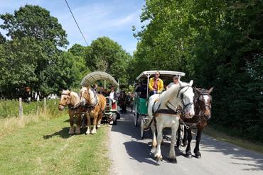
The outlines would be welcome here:
<svg viewBox="0 0 263 175">
<path fill-rule="evenodd" d="M 153 133 L 152 151 L 155 150 L 154 157 L 162 159 L 161 142 L 163 140 L 163 128 L 171 128 L 171 146 L 169 152 L 169 160 L 176 162 L 176 153 L 174 145 L 176 144 L 176 132 L 179 126 L 179 113 L 176 106 L 183 107 L 183 113 L 186 118 L 192 118 L 195 114 L 193 106 L 193 80 L 190 83 L 179 81 L 179 84 L 171 86 L 163 94 L 155 94 L 149 98 L 148 115 L 151 120 L 156 120 L 156 127 L 151 123 L 151 131 Z M 156 128 L 157 128 L 157 144 L 156 144 Z M 157 148 L 156 148 L 157 145 Z"/>
</svg>

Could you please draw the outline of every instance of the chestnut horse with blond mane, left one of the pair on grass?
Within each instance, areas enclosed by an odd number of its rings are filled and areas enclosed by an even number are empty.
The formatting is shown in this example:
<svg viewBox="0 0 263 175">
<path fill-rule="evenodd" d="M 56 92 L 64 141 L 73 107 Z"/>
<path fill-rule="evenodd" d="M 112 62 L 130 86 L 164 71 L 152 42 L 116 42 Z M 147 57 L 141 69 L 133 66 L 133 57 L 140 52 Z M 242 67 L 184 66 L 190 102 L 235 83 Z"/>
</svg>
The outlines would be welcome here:
<svg viewBox="0 0 263 175">
<path fill-rule="evenodd" d="M 60 97 L 60 103 L 58 106 L 58 109 L 60 111 L 63 111 L 65 106 L 68 106 L 68 115 L 70 115 L 70 130 L 69 134 L 74 134 L 74 120 L 73 117 L 77 116 L 77 128 L 75 130 L 75 134 L 80 134 L 80 124 L 81 124 L 81 114 L 85 113 L 85 108 L 76 108 L 73 107 L 80 103 L 80 97 L 77 93 L 69 90 L 63 90 L 61 97 Z"/>
</svg>

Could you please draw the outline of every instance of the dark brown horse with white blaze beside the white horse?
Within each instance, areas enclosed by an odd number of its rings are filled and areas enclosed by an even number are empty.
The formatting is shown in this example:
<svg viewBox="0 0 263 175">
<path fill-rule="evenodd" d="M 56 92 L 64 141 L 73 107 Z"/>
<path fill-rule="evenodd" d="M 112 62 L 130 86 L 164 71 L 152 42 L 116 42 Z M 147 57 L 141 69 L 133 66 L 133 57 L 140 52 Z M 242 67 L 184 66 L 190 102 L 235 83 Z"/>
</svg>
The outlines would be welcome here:
<svg viewBox="0 0 263 175">
<path fill-rule="evenodd" d="M 194 96 L 194 105 L 195 105 L 195 115 L 193 118 L 183 118 L 183 123 L 186 125 L 184 127 L 184 135 L 183 135 L 183 145 L 187 145 L 186 147 L 186 157 L 191 158 L 192 154 L 190 152 L 190 142 L 192 140 L 192 128 L 196 126 L 197 135 L 196 135 L 196 143 L 195 149 L 193 152 L 195 153 L 196 158 L 201 158 L 201 154 L 199 152 L 199 143 L 201 140 L 201 134 L 205 125 L 207 125 L 208 120 L 211 117 L 211 103 L 212 96 L 210 96 L 213 91 L 213 87 L 209 90 L 195 88 L 195 96 Z M 176 142 L 177 147 L 181 145 L 180 133 L 181 128 L 178 129 L 178 139 Z M 187 141 L 186 141 L 187 139 Z M 188 144 L 187 144 L 188 142 Z"/>
</svg>

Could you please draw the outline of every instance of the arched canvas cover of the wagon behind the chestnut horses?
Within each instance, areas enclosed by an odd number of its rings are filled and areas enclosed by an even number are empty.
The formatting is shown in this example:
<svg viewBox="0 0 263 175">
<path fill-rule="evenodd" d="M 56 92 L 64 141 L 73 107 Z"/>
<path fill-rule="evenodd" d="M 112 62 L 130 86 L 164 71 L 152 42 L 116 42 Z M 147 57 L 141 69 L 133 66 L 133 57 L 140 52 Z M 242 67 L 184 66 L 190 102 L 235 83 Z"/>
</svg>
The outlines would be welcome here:
<svg viewBox="0 0 263 175">
<path fill-rule="evenodd" d="M 90 74 L 87 74 L 81 81 L 80 85 L 81 86 L 90 86 L 91 84 L 95 83 L 97 80 L 106 80 L 109 81 L 109 83 L 114 86 L 114 88 L 119 89 L 119 84 L 117 81 L 110 75 L 107 74 L 106 72 L 92 72 Z"/>
</svg>

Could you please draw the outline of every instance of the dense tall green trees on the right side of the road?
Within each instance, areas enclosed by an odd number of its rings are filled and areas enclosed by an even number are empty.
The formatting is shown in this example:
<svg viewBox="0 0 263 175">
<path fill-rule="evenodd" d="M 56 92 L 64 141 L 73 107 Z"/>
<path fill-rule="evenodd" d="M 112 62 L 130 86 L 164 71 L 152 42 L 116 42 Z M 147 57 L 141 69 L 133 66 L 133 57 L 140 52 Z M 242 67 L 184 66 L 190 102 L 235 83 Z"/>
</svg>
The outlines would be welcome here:
<svg viewBox="0 0 263 175">
<path fill-rule="evenodd" d="M 215 86 L 211 123 L 263 141 L 262 14 L 262 1 L 146 0 L 132 78 L 145 69 L 186 72 L 195 86 Z"/>
</svg>

